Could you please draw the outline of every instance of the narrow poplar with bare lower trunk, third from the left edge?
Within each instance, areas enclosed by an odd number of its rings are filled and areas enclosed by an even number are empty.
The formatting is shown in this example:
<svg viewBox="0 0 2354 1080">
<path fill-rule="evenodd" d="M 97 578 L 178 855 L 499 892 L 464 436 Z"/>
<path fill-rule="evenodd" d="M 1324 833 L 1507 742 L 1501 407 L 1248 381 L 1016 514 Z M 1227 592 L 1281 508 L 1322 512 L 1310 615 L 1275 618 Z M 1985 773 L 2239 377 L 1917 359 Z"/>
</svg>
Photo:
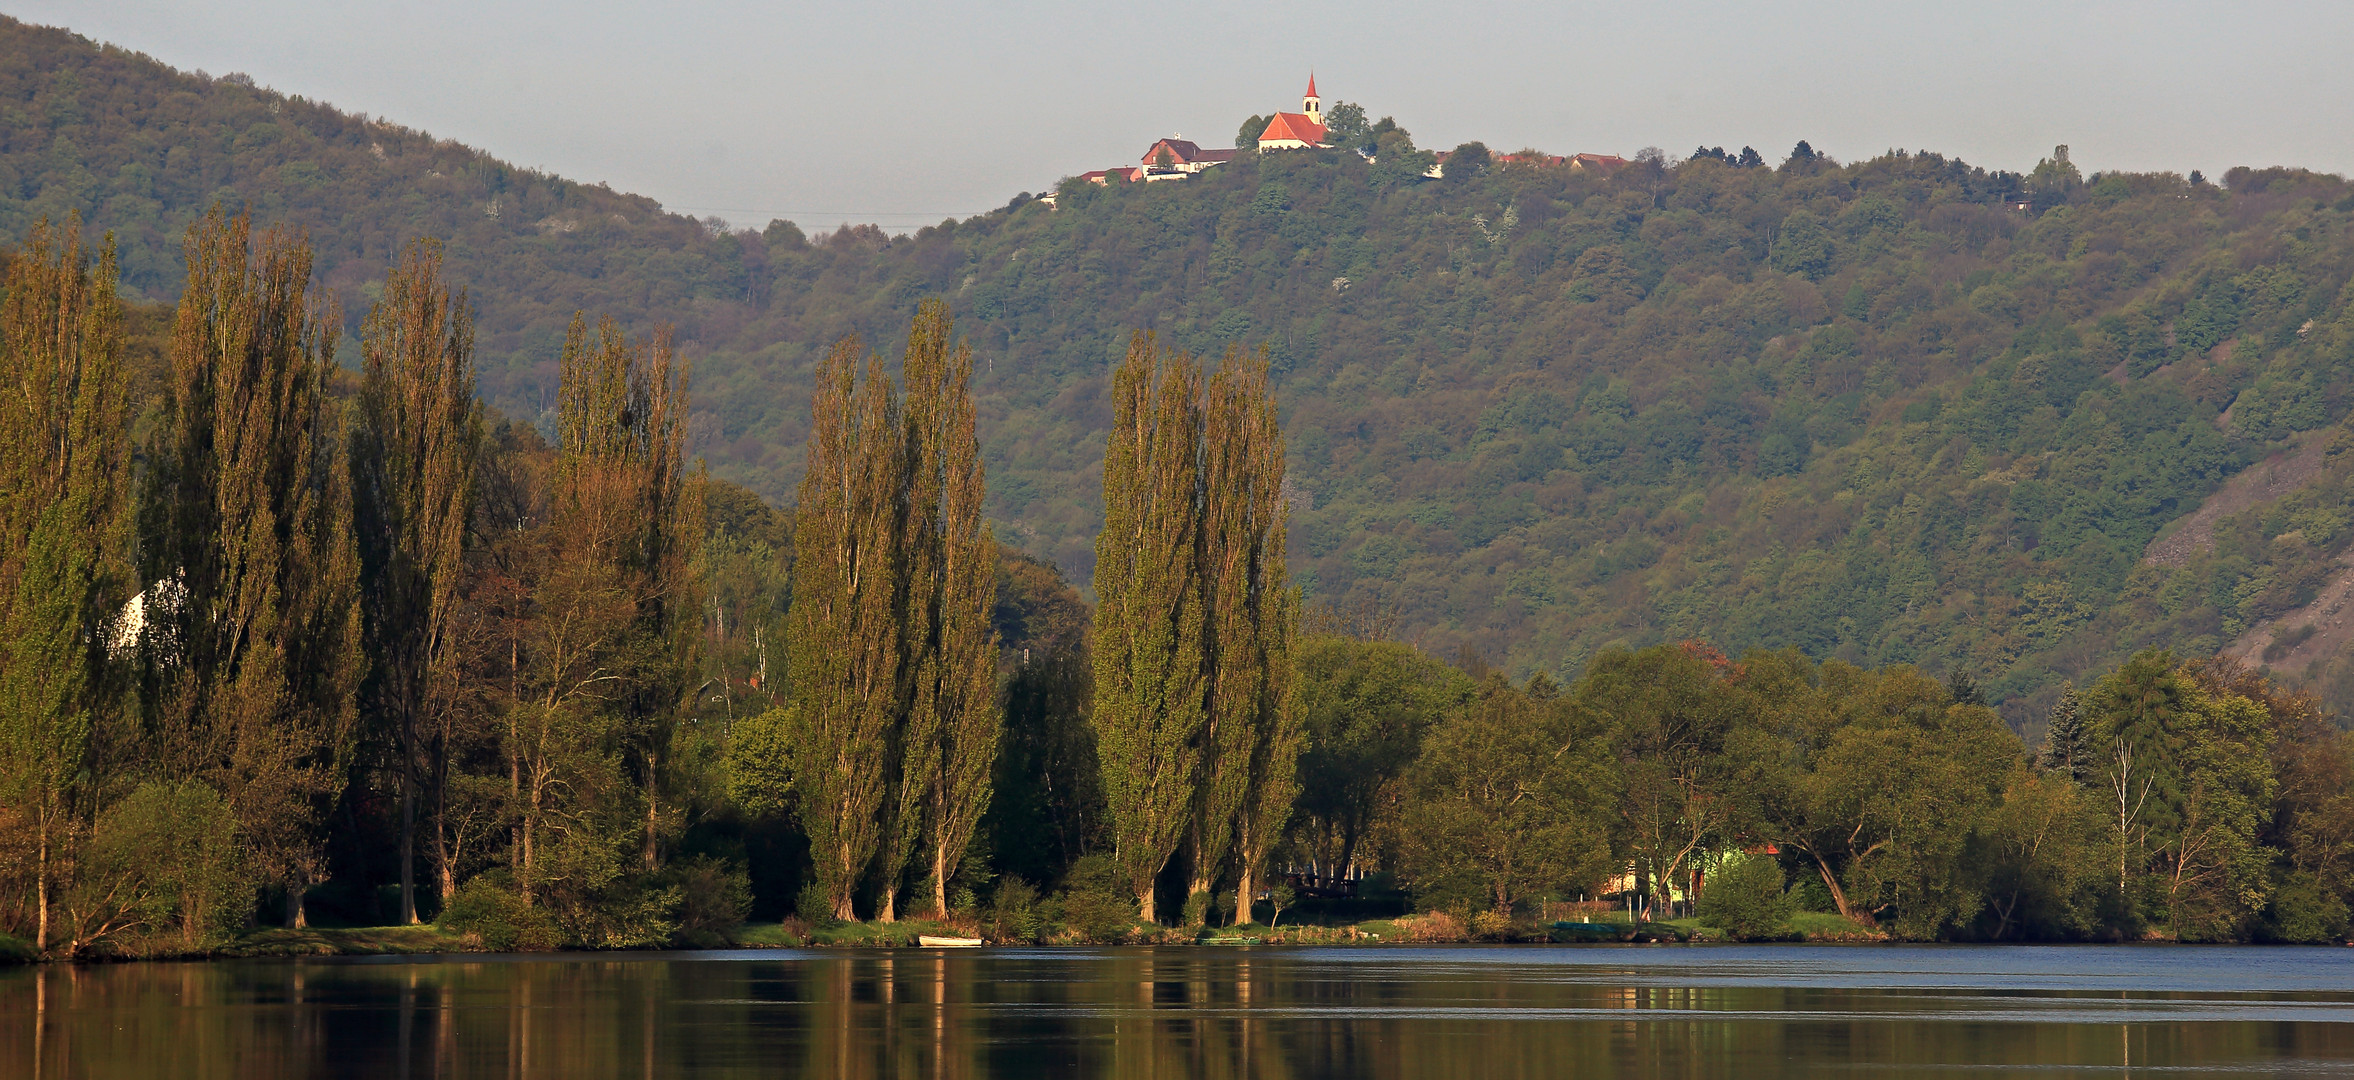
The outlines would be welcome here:
<svg viewBox="0 0 2354 1080">
<path fill-rule="evenodd" d="M 363 327 L 353 454 L 374 711 L 400 781 L 400 922 L 417 922 L 417 802 L 428 682 L 447 673 L 483 414 L 473 400 L 473 311 L 419 240 L 384 278 Z M 433 746 L 433 755 L 443 753 Z M 435 833 L 440 835 L 440 833 Z M 443 859 L 443 901 L 457 882 Z"/>
</svg>

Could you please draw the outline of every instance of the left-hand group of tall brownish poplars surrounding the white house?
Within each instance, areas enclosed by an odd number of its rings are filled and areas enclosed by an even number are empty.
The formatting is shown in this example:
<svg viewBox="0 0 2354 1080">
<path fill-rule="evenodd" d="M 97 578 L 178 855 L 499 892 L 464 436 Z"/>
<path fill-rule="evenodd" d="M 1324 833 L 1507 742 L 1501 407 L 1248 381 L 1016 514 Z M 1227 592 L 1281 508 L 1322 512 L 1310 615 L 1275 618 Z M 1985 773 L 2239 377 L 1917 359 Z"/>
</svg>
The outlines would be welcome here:
<svg viewBox="0 0 2354 1080">
<path fill-rule="evenodd" d="M 301 925 L 353 784 L 398 800 L 405 922 L 417 866 L 447 901 L 485 847 L 523 904 L 579 878 L 551 840 L 652 868 L 701 539 L 664 339 L 574 320 L 560 445 L 508 426 L 537 456 L 494 459 L 433 242 L 386 275 L 353 379 L 308 245 L 214 207 L 146 409 L 113 242 L 42 224 L 5 259 L 0 847 L 42 953 L 198 946 L 257 889 Z M 629 798 L 591 814 L 607 774 Z"/>
</svg>

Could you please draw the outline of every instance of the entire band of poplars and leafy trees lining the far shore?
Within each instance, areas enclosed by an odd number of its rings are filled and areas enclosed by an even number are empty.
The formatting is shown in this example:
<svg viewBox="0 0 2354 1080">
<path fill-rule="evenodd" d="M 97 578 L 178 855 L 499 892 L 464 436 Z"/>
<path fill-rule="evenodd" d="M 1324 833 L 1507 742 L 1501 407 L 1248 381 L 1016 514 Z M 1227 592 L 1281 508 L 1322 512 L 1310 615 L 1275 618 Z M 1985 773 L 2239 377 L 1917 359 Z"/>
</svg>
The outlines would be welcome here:
<svg viewBox="0 0 2354 1080">
<path fill-rule="evenodd" d="M 784 515 L 687 464 L 664 334 L 574 318 L 544 438 L 476 405 L 433 242 L 358 372 L 299 238 L 214 212 L 186 259 L 167 339 L 78 226 L 0 294 L 0 929 L 49 955 L 313 913 L 1118 939 L 1271 918 L 1283 866 L 1474 922 L 1624 892 L 1911 939 L 2347 934 L 2354 744 L 2232 661 L 2133 656 L 2029 751 L 1909 666 L 1683 642 L 1563 687 L 1302 612 L 1266 353 L 1132 339 L 1090 612 L 982 522 L 946 306 L 897 376 L 831 353 Z"/>
</svg>

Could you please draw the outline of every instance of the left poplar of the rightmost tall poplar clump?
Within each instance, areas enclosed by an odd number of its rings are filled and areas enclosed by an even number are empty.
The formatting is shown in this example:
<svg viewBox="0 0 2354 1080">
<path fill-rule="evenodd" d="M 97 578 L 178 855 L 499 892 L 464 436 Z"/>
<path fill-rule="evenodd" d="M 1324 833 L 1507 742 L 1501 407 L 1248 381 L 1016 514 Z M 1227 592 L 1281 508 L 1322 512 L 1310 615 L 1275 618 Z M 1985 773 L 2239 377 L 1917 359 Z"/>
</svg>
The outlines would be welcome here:
<svg viewBox="0 0 2354 1080">
<path fill-rule="evenodd" d="M 1144 920 L 1193 819 L 1203 727 L 1201 367 L 1137 332 L 1111 376 L 1095 539 L 1095 744 L 1116 859 Z"/>
</svg>

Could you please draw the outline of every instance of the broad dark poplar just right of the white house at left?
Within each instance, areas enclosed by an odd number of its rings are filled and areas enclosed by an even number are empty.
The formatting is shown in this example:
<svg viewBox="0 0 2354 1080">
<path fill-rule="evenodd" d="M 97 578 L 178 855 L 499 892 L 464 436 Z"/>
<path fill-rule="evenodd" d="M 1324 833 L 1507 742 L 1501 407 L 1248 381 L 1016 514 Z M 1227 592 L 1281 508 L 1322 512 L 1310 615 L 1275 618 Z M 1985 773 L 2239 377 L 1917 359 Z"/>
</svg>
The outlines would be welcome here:
<svg viewBox="0 0 2354 1080">
<path fill-rule="evenodd" d="M 358 715 L 360 560 L 351 464 L 325 384 L 337 313 L 311 249 L 214 207 L 188 228 L 188 287 L 141 501 L 141 685 L 155 762 L 210 784 L 287 920 Z"/>
</svg>

